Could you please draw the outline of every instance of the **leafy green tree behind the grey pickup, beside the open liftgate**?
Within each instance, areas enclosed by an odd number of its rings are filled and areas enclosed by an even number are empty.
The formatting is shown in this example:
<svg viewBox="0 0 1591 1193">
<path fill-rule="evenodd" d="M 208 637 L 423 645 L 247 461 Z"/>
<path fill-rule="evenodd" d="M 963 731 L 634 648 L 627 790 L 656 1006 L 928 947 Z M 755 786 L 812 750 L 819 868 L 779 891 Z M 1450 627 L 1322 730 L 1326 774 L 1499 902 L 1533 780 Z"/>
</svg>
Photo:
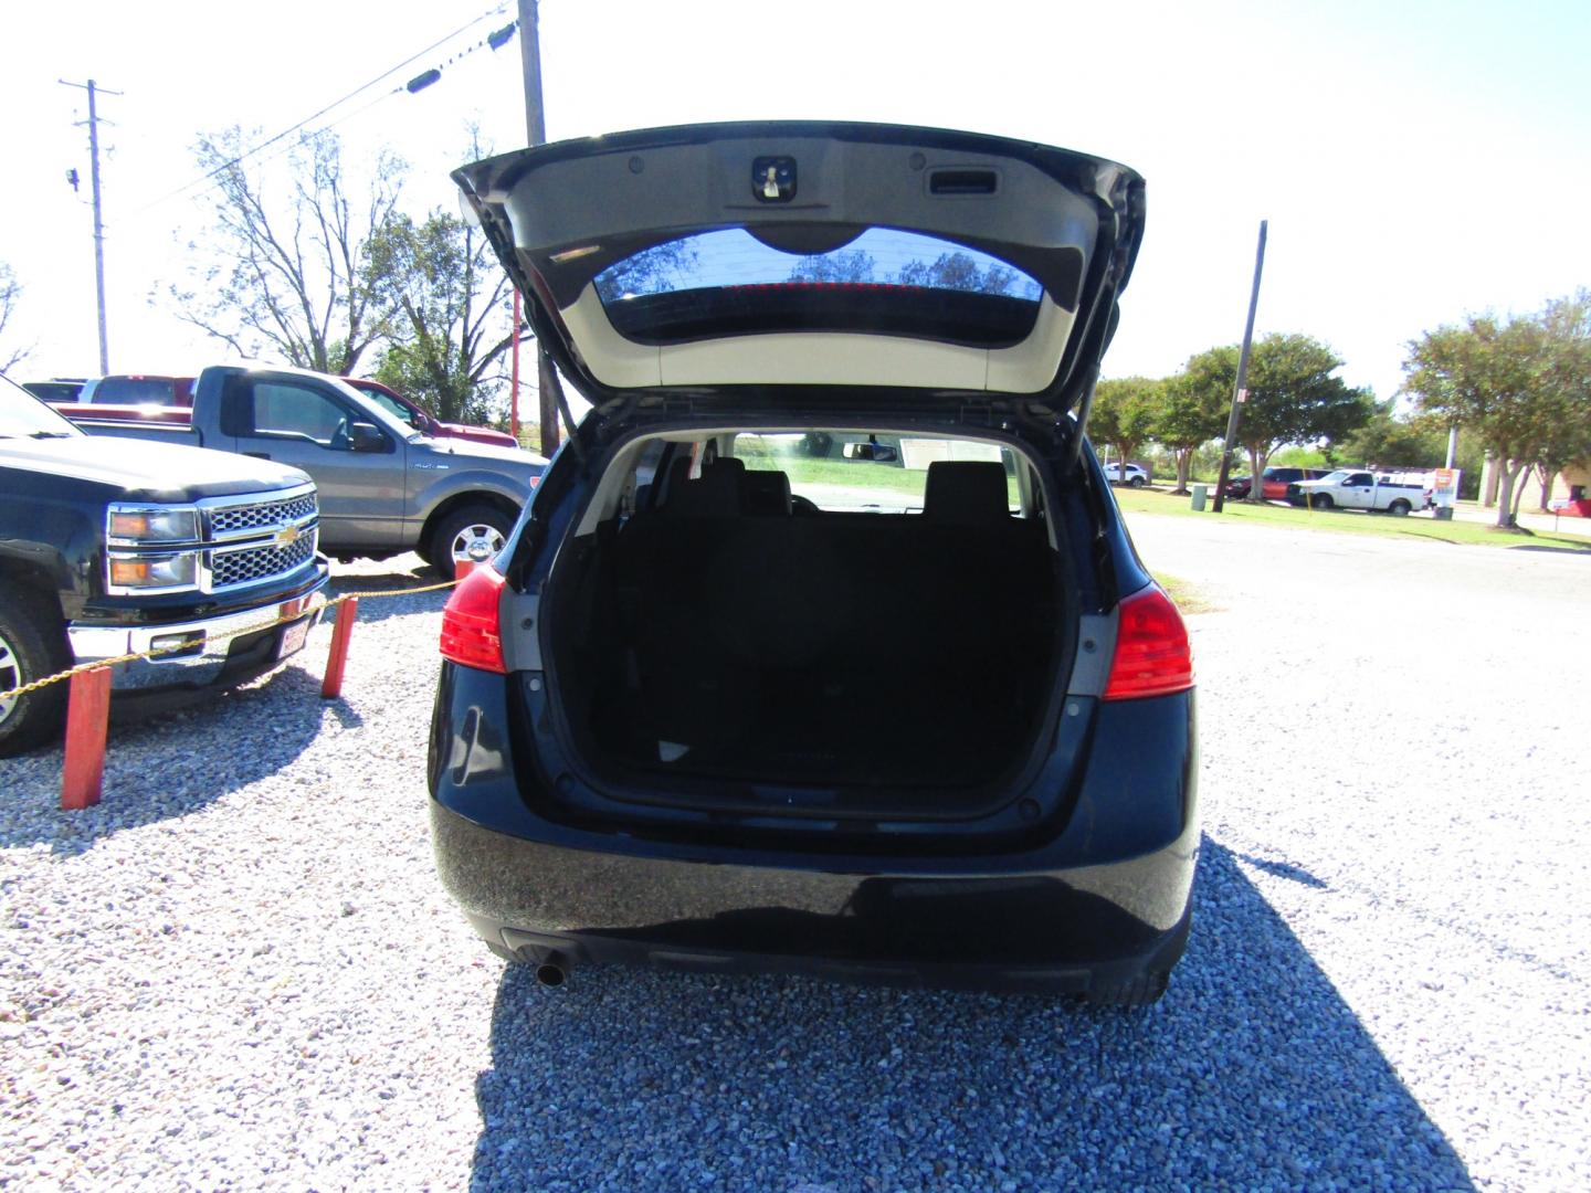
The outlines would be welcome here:
<svg viewBox="0 0 1591 1193">
<path fill-rule="evenodd" d="M 366 285 L 391 312 L 375 379 L 444 422 L 487 422 L 493 366 L 512 344 L 509 278 L 458 216 L 396 215 L 371 239 Z"/>
</svg>

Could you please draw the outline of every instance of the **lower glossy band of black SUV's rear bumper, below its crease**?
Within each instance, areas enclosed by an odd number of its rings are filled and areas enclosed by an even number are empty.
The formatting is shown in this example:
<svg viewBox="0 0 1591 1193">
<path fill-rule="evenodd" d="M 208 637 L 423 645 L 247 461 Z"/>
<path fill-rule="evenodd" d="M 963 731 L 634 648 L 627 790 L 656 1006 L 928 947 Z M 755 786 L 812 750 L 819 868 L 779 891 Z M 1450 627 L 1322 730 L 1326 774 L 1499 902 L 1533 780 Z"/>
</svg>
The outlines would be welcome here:
<svg viewBox="0 0 1591 1193">
<path fill-rule="evenodd" d="M 568 849 L 434 802 L 431 827 L 476 932 L 527 962 L 1098 994 L 1169 972 L 1188 932 L 1192 853 L 1072 873 L 837 873 Z M 1155 889 L 1169 924 L 1123 905 Z"/>
</svg>

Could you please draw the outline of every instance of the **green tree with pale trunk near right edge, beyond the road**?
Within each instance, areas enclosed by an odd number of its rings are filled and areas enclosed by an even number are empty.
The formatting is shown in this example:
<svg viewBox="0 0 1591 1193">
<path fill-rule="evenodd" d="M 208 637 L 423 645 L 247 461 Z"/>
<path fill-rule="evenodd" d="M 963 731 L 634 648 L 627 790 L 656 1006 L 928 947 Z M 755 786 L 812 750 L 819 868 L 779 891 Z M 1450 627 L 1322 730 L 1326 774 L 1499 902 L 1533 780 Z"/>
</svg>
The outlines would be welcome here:
<svg viewBox="0 0 1591 1193">
<path fill-rule="evenodd" d="M 1518 523 L 1515 487 L 1543 455 L 1543 439 L 1562 417 L 1562 394 L 1548 383 L 1551 367 L 1540 317 L 1475 315 L 1408 345 L 1403 388 L 1422 412 L 1473 431 L 1497 461 L 1499 527 Z"/>
</svg>

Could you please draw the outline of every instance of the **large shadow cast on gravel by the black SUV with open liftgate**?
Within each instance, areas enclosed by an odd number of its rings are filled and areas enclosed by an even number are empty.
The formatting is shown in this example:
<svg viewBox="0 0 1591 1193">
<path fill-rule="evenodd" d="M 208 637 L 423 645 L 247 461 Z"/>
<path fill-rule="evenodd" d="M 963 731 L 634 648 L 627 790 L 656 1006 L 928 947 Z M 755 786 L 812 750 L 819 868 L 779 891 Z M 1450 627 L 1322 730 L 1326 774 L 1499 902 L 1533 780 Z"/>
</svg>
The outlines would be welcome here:
<svg viewBox="0 0 1591 1193">
<path fill-rule="evenodd" d="M 1195 907 L 1141 1012 L 509 966 L 473 1188 L 1473 1188 L 1209 838 Z"/>
</svg>

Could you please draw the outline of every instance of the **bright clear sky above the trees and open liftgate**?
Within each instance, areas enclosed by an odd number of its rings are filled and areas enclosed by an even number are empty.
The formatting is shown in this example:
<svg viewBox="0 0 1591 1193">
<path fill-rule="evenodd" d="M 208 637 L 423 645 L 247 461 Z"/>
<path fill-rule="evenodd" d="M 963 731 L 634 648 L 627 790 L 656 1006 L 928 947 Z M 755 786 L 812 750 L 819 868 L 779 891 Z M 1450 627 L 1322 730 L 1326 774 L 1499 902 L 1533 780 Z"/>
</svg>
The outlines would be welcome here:
<svg viewBox="0 0 1591 1193">
<path fill-rule="evenodd" d="M 196 191 L 169 197 L 199 173 L 197 134 L 280 132 L 492 8 L 0 8 L 0 261 L 25 286 L 8 342 L 37 344 L 18 379 L 97 371 L 84 94 L 57 80 L 123 92 L 100 108 L 115 121 L 102 162 L 111 371 L 189 372 L 224 356 L 159 297 L 186 282 L 185 245 L 207 218 Z M 452 210 L 465 124 L 509 150 L 525 122 L 517 41 L 444 62 L 512 16 L 506 5 L 310 127 L 339 121 L 355 162 L 398 151 L 414 167 L 407 205 Z M 1421 331 L 1591 285 L 1585 0 L 544 0 L 541 40 L 552 140 L 840 118 L 1028 137 L 1133 165 L 1149 180 L 1149 232 L 1107 375 L 1168 374 L 1241 336 L 1262 218 L 1257 331 L 1324 339 L 1344 377 L 1379 396 L 1397 390 Z M 431 65 L 444 67 L 438 84 L 382 99 Z"/>
</svg>

